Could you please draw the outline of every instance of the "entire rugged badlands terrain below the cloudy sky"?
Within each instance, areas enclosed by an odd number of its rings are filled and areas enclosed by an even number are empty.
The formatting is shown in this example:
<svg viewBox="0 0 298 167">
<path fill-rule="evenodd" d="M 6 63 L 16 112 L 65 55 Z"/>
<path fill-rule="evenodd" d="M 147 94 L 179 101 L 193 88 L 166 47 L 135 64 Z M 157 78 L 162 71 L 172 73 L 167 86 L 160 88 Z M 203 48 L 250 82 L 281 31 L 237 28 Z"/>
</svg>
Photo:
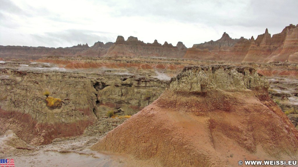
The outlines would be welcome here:
<svg viewBox="0 0 298 167">
<path fill-rule="evenodd" d="M 239 166 L 298 159 L 298 27 L 186 48 L 0 46 L 0 159 Z"/>
</svg>

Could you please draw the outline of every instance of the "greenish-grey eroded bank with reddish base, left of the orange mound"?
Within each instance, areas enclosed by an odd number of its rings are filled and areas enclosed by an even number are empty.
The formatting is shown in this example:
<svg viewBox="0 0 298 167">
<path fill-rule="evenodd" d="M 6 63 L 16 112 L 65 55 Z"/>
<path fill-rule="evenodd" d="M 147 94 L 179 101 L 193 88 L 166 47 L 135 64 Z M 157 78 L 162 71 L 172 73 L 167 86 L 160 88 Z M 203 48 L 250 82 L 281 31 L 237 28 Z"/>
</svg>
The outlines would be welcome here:
<svg viewBox="0 0 298 167">
<path fill-rule="evenodd" d="M 148 71 L 142 75 L 54 68 L 37 62 L 1 64 L 0 135 L 13 130 L 19 138 L 33 145 L 78 136 L 95 122 L 99 126 L 109 122 L 97 121 L 105 119 L 108 111 L 122 108 L 121 114 L 135 114 L 156 100 L 168 82 L 147 76 Z M 43 95 L 47 90 L 52 98 Z M 49 101 L 54 98 L 61 99 L 57 100 L 60 104 L 51 105 Z M 105 131 L 108 130 L 101 130 Z"/>
</svg>

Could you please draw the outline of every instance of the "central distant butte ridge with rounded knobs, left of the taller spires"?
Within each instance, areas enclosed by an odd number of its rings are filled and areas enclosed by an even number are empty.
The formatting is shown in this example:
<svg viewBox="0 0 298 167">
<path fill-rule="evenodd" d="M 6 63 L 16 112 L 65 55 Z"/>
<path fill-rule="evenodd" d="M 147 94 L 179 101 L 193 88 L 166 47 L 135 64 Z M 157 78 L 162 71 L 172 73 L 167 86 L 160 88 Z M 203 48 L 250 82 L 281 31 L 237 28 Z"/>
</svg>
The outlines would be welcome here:
<svg viewBox="0 0 298 167">
<path fill-rule="evenodd" d="M 155 40 L 153 43 L 144 43 L 136 37 L 128 37 L 125 41 L 122 36 L 118 36 L 116 42 L 105 54 L 106 57 L 177 57 L 184 56 L 186 47 L 182 42 L 178 42 L 174 47 L 172 44 L 164 42 L 160 44 Z"/>
</svg>

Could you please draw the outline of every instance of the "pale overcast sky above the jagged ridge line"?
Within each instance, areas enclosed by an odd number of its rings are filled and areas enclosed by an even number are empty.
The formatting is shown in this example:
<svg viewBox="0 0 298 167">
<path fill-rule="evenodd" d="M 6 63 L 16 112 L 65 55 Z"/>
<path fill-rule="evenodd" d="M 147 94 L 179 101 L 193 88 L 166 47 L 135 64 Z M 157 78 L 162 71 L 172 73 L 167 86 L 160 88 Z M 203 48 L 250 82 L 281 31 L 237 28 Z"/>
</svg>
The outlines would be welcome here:
<svg viewBox="0 0 298 167">
<path fill-rule="evenodd" d="M 193 44 L 271 36 L 298 24 L 298 0 L 0 0 L 0 45 L 71 47 L 138 37 Z"/>
</svg>

